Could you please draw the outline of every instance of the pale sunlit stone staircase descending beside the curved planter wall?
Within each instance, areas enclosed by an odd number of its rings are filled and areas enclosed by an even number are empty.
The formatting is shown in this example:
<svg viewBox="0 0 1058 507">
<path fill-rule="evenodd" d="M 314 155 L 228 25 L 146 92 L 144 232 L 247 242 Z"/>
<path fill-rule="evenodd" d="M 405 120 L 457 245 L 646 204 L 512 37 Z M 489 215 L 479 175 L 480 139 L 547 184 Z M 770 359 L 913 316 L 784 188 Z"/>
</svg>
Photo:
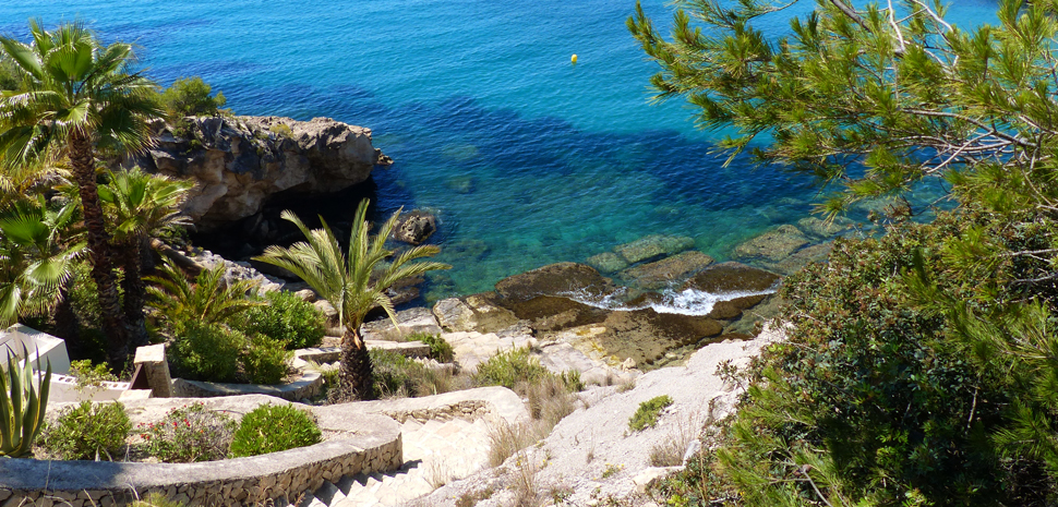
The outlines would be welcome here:
<svg viewBox="0 0 1058 507">
<path fill-rule="evenodd" d="M 401 424 L 405 466 L 388 473 L 325 482 L 301 507 L 400 505 L 488 466 L 490 423 L 484 419 L 408 419 Z"/>
</svg>

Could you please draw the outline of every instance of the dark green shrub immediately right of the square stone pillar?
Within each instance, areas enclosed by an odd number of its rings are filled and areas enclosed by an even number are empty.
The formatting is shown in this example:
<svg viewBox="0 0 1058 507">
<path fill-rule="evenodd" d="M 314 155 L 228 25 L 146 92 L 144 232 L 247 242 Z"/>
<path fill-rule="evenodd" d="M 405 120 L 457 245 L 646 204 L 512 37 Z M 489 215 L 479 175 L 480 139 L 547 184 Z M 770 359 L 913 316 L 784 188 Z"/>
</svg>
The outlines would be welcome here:
<svg viewBox="0 0 1058 507">
<path fill-rule="evenodd" d="M 178 323 L 169 348 L 173 370 L 184 378 L 235 382 L 247 337 L 224 324 Z"/>
</svg>

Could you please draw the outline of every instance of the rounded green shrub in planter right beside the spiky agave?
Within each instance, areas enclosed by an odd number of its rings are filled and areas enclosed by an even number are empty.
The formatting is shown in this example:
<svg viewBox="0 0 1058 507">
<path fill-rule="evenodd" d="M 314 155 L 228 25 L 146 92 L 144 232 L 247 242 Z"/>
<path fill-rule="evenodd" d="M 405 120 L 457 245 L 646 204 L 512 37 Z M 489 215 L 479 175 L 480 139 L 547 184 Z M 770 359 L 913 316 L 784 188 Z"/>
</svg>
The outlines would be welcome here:
<svg viewBox="0 0 1058 507">
<path fill-rule="evenodd" d="M 131 428 L 123 405 L 82 401 L 63 409 L 45 428 L 40 446 L 59 459 L 113 461 L 123 457 Z"/>
</svg>

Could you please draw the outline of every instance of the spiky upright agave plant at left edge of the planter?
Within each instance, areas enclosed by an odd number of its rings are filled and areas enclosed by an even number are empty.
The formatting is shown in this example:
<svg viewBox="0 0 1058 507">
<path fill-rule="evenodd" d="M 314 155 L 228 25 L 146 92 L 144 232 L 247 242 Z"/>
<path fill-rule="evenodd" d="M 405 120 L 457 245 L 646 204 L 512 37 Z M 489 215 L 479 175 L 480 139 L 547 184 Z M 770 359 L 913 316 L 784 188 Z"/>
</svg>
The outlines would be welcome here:
<svg viewBox="0 0 1058 507">
<path fill-rule="evenodd" d="M 25 346 L 22 355 L 28 358 Z M 28 359 L 20 366 L 15 354 L 8 349 L 8 371 L 0 375 L 0 457 L 22 458 L 33 449 L 33 440 L 44 427 L 51 387 L 51 361 L 44 376 L 33 385 L 33 367 Z M 37 357 L 37 370 L 40 358 Z"/>
</svg>

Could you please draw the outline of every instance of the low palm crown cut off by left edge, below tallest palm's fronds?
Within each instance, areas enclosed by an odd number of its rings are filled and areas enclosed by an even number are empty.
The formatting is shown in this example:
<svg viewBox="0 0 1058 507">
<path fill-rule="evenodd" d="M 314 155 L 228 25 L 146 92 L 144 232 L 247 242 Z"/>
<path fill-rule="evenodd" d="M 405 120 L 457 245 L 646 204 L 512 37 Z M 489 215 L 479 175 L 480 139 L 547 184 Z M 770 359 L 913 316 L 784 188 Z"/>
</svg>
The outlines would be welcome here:
<svg viewBox="0 0 1058 507">
<path fill-rule="evenodd" d="M 85 250 L 83 241 L 68 244 L 63 238 L 75 212 L 75 203 L 50 210 L 38 197 L 0 214 L 0 329 L 65 299 L 73 263 Z"/>
</svg>

